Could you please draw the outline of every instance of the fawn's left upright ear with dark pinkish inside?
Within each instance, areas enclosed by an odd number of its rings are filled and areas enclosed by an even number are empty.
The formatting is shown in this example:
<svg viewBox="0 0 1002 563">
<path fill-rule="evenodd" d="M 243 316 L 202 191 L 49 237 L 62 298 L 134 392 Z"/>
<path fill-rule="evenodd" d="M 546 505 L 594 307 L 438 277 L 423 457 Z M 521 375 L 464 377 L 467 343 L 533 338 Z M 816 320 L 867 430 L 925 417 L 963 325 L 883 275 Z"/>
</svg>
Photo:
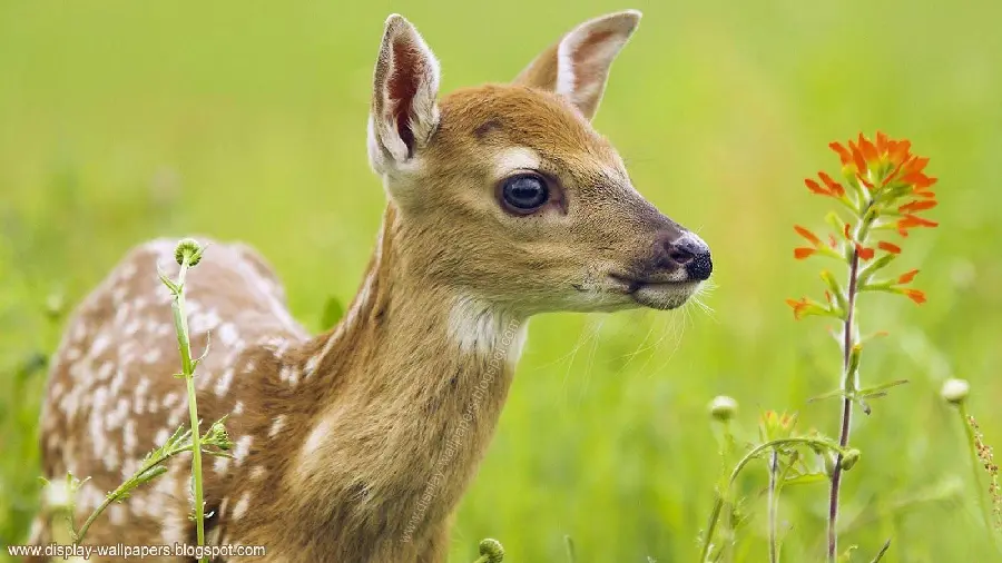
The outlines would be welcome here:
<svg viewBox="0 0 1002 563">
<path fill-rule="evenodd" d="M 407 162 L 439 125 L 439 61 L 410 21 L 386 19 L 373 77 L 369 160 L 379 174 Z"/>
</svg>

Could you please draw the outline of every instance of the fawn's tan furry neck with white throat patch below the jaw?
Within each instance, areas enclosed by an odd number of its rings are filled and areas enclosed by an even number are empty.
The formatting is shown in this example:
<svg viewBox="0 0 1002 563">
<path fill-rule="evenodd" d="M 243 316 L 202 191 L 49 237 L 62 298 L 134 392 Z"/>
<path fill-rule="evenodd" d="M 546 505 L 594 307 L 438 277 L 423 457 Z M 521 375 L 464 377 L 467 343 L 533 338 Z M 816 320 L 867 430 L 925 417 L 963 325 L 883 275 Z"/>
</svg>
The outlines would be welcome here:
<svg viewBox="0 0 1002 563">
<path fill-rule="evenodd" d="M 338 526 L 392 515 L 380 525 L 409 540 L 448 517 L 472 478 L 507 398 L 525 319 L 409 264 L 396 214 L 387 207 L 342 323 L 304 356 L 314 387 L 304 397 L 321 399 L 310 398 L 317 408 L 292 476 L 303 505 L 328 506 L 323 517 Z"/>
</svg>

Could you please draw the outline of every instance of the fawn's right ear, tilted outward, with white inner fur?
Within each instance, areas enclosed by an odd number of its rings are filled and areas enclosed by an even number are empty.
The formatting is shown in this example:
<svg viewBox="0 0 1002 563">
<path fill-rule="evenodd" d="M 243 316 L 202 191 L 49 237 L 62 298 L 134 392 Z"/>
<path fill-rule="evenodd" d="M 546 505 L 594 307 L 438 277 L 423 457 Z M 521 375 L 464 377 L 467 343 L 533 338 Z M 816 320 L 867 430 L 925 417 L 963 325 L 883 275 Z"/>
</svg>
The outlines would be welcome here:
<svg viewBox="0 0 1002 563">
<path fill-rule="evenodd" d="M 606 90 L 609 68 L 639 22 L 637 10 L 586 21 L 537 57 L 514 83 L 564 96 L 591 119 Z"/>
</svg>

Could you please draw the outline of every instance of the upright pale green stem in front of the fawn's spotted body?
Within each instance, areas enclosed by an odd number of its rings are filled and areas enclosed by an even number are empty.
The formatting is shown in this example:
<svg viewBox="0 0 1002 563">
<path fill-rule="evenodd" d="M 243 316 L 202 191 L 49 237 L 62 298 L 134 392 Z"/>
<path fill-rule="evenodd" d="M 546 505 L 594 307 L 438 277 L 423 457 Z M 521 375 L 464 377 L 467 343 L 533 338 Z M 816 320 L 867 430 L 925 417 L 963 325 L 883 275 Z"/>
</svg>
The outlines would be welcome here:
<svg viewBox="0 0 1002 563">
<path fill-rule="evenodd" d="M 195 536 L 198 545 L 205 545 L 205 503 L 202 492 L 202 434 L 198 424 L 198 406 L 195 402 L 195 362 L 191 359 L 191 339 L 188 333 L 188 317 L 185 314 L 185 274 L 188 271 L 190 256 L 185 255 L 177 276 L 177 292 L 174 294 L 174 328 L 177 332 L 177 345 L 181 356 L 181 374 L 188 392 L 188 415 L 191 424 L 191 483 L 195 498 Z M 207 559 L 203 559 L 207 562 Z"/>
</svg>

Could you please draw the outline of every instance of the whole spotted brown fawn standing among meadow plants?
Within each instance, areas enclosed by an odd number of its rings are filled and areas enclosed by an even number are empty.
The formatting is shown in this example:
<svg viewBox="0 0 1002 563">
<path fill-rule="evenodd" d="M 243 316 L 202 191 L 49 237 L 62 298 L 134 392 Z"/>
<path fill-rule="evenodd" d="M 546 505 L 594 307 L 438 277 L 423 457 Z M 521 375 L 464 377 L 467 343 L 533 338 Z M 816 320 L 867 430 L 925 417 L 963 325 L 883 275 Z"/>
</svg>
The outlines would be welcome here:
<svg viewBox="0 0 1002 563">
<path fill-rule="evenodd" d="M 235 458 L 207 458 L 206 535 L 268 562 L 443 562 L 538 313 L 682 305 L 711 270 L 696 235 L 633 188 L 591 127 L 640 19 L 587 21 L 510 85 L 439 99 L 416 29 L 386 20 L 369 158 L 389 204 L 361 289 L 313 337 L 266 263 L 213 244 L 187 282 L 204 424 L 228 415 Z M 80 305 L 41 418 L 45 473 L 90 476 L 78 517 L 186 422 L 168 293 L 174 245 L 132 250 Z M 173 266 L 171 266 L 173 267 Z M 194 543 L 190 458 L 110 507 L 88 543 Z M 62 522 L 36 523 L 48 541 Z"/>
</svg>

